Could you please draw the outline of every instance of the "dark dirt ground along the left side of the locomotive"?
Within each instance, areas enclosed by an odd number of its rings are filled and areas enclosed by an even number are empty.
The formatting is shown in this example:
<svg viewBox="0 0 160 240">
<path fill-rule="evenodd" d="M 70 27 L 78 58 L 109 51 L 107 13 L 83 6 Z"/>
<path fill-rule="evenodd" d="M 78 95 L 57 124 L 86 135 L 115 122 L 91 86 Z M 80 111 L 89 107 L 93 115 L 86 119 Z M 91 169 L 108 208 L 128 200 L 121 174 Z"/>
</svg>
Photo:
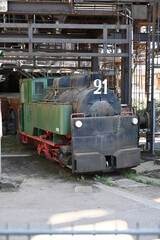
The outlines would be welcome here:
<svg viewBox="0 0 160 240">
<path fill-rule="evenodd" d="M 3 176 L 20 179 L 40 177 L 40 178 L 62 178 L 72 179 L 73 174 L 68 169 L 63 169 L 56 162 L 51 162 L 44 157 L 38 156 L 36 148 L 30 145 L 21 145 L 14 135 L 7 135 L 2 138 L 2 155 L 13 154 L 13 157 L 2 157 Z M 17 153 L 29 153 L 30 156 L 14 157 Z"/>
</svg>

